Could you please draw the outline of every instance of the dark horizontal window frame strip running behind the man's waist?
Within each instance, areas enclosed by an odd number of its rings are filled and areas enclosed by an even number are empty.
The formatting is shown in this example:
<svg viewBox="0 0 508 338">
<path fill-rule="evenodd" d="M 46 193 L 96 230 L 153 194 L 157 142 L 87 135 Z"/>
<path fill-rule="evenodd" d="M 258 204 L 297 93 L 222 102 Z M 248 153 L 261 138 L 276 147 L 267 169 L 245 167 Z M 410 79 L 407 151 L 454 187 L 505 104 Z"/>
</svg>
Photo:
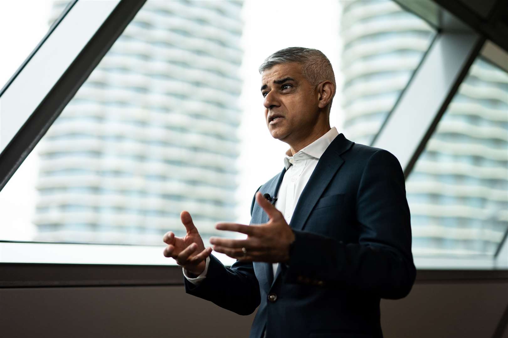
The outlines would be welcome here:
<svg viewBox="0 0 508 338">
<path fill-rule="evenodd" d="M 0 264 L 0 288 L 177 286 L 179 266 Z M 508 285 L 508 270 L 418 270 L 417 284 L 495 282 Z"/>
</svg>

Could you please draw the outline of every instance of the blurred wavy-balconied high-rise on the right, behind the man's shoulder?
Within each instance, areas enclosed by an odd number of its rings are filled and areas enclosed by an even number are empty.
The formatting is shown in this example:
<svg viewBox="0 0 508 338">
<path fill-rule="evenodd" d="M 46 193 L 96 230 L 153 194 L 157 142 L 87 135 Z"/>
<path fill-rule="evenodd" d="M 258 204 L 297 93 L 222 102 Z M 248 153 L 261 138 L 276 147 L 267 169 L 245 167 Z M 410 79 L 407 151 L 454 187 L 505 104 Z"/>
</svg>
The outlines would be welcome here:
<svg viewBox="0 0 508 338">
<path fill-rule="evenodd" d="M 390 0 L 341 4 L 344 133 L 370 144 L 433 30 Z M 497 250 L 508 228 L 507 104 L 508 74 L 475 61 L 406 182 L 415 255 Z"/>
</svg>

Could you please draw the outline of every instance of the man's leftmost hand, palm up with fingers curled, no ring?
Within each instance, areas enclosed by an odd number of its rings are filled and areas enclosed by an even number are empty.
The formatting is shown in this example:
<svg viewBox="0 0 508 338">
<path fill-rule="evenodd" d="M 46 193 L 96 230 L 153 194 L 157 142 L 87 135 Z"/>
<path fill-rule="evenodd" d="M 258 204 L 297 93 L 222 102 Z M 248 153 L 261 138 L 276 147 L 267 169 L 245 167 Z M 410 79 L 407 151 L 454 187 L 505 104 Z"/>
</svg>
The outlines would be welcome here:
<svg viewBox="0 0 508 338">
<path fill-rule="evenodd" d="M 168 244 L 164 249 L 164 256 L 174 258 L 183 269 L 199 276 L 205 270 L 206 257 L 210 255 L 212 248 L 205 249 L 198 229 L 187 211 L 182 211 L 180 219 L 187 234 L 185 237 L 175 237 L 172 231 L 167 232 L 163 238 L 164 243 Z"/>
</svg>

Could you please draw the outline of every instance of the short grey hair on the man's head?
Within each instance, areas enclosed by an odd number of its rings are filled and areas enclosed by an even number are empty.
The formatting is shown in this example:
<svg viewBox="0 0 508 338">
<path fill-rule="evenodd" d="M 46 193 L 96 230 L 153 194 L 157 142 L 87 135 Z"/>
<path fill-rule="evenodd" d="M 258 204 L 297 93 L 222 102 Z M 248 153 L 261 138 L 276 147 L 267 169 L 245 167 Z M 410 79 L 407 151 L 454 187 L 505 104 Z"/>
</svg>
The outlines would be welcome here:
<svg viewBox="0 0 508 338">
<path fill-rule="evenodd" d="M 288 47 L 276 51 L 261 64 L 259 73 L 261 74 L 264 70 L 270 69 L 276 64 L 289 62 L 302 64 L 302 75 L 312 87 L 328 80 L 337 88 L 330 60 L 323 52 L 312 48 Z"/>
</svg>

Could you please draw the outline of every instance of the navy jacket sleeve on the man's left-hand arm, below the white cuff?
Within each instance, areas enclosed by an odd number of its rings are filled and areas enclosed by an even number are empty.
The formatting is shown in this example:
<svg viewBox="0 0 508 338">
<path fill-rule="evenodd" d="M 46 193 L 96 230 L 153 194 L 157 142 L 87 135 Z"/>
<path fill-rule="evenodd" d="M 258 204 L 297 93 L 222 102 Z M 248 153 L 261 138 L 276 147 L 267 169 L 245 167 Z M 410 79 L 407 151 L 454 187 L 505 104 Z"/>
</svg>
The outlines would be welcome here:
<svg viewBox="0 0 508 338">
<path fill-rule="evenodd" d="M 261 186 L 256 192 L 259 191 Z M 256 194 L 255 194 L 256 196 Z M 254 206 L 252 199 L 250 215 Z M 231 268 L 225 267 L 210 255 L 206 278 L 195 285 L 184 278 L 185 292 L 213 302 L 239 315 L 250 315 L 261 303 L 259 283 L 252 262 L 237 260 Z"/>
</svg>

